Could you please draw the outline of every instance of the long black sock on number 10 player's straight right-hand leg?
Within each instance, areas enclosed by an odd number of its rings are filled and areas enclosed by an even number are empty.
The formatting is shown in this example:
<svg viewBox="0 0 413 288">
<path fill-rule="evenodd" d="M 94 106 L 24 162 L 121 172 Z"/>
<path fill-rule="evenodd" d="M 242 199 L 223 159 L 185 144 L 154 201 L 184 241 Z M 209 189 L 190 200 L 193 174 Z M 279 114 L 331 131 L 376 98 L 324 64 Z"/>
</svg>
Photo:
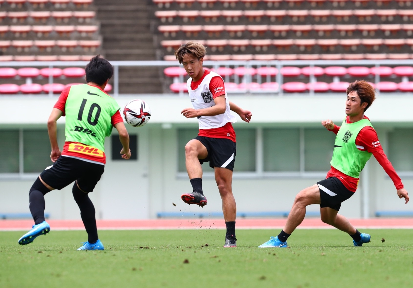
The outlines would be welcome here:
<svg viewBox="0 0 413 288">
<path fill-rule="evenodd" d="M 97 237 L 95 206 L 93 206 L 88 194 L 78 188 L 76 182 L 73 185 L 72 193 L 79 206 L 80 216 L 88 233 L 88 242 L 91 244 L 96 243 L 99 238 Z"/>
</svg>

